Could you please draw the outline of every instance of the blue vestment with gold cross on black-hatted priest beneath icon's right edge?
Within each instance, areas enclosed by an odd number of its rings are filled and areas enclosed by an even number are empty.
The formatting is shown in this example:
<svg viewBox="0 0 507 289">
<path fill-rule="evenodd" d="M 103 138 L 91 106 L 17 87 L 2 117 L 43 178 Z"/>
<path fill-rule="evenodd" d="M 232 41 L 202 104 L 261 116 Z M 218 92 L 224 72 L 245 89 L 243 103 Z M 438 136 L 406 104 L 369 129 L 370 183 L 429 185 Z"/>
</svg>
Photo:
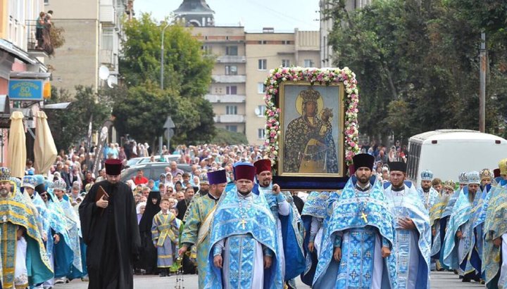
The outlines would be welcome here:
<svg viewBox="0 0 507 289">
<path fill-rule="evenodd" d="M 382 243 L 396 252 L 393 218 L 382 184 L 376 180 L 370 191 L 361 193 L 356 192 L 355 184 L 356 178 L 352 176 L 325 224 L 313 287 L 371 288 L 375 269 L 379 269 L 375 268 L 376 263 L 383 267 L 378 276 L 382 288 L 397 288 L 396 255 L 386 259 L 376 255 L 380 254 Z M 367 214 L 365 218 L 363 213 Z M 342 236 L 342 259 L 337 262 L 333 257 L 335 239 Z M 375 262 L 379 258 L 381 263 Z"/>
</svg>

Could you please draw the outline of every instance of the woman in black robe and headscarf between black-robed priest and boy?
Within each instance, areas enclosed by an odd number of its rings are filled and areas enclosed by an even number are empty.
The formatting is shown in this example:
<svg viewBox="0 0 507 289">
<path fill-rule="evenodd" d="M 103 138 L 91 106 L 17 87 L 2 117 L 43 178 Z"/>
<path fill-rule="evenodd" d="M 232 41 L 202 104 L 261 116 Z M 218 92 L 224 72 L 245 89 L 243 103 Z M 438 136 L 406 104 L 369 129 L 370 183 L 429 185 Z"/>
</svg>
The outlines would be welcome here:
<svg viewBox="0 0 507 289">
<path fill-rule="evenodd" d="M 157 271 L 157 250 L 151 239 L 151 225 L 153 218 L 160 212 L 160 192 L 151 191 L 146 200 L 144 213 L 139 220 L 139 233 L 141 235 L 141 250 L 139 254 L 139 269 L 144 269 L 146 274 L 158 274 Z"/>
</svg>

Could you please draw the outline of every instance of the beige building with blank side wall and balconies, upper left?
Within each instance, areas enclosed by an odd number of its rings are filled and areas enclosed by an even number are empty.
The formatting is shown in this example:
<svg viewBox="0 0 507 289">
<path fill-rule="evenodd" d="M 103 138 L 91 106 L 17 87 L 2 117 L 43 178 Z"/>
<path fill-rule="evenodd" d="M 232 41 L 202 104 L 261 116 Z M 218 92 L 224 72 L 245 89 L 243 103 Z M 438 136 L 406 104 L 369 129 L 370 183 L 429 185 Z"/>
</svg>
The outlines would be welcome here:
<svg viewBox="0 0 507 289">
<path fill-rule="evenodd" d="M 56 49 L 51 65 L 53 84 L 74 91 L 76 85 L 110 86 L 118 82 L 121 20 L 132 17 L 132 0 L 46 0 L 53 22 L 65 30 L 65 44 Z M 107 79 L 99 68 L 109 70 Z M 104 78 L 106 78 L 104 77 Z"/>
</svg>

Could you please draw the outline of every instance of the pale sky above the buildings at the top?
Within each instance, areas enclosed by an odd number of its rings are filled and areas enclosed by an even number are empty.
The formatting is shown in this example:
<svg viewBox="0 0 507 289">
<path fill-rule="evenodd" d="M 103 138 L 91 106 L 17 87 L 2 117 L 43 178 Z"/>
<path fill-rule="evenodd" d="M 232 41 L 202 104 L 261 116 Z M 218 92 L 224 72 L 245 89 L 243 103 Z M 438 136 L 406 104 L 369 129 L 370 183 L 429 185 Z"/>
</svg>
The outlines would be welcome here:
<svg viewBox="0 0 507 289">
<path fill-rule="evenodd" d="M 183 0 L 136 0 L 136 16 L 151 13 L 156 20 L 170 16 Z M 216 26 L 245 27 L 246 32 L 261 32 L 263 27 L 274 27 L 275 32 L 319 30 L 319 0 L 207 0 L 215 11 Z"/>
</svg>

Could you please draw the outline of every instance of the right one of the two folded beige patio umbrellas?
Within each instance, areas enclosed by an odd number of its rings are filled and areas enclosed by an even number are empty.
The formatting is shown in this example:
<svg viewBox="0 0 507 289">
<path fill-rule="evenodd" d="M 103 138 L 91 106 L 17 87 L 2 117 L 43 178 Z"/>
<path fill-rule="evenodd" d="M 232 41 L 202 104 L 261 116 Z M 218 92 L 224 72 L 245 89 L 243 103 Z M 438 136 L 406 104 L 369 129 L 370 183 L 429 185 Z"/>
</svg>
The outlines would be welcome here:
<svg viewBox="0 0 507 289">
<path fill-rule="evenodd" d="M 37 119 L 34 143 L 35 174 L 45 174 L 56 160 L 56 146 L 47 123 L 46 113 L 38 111 L 35 117 Z"/>
</svg>

